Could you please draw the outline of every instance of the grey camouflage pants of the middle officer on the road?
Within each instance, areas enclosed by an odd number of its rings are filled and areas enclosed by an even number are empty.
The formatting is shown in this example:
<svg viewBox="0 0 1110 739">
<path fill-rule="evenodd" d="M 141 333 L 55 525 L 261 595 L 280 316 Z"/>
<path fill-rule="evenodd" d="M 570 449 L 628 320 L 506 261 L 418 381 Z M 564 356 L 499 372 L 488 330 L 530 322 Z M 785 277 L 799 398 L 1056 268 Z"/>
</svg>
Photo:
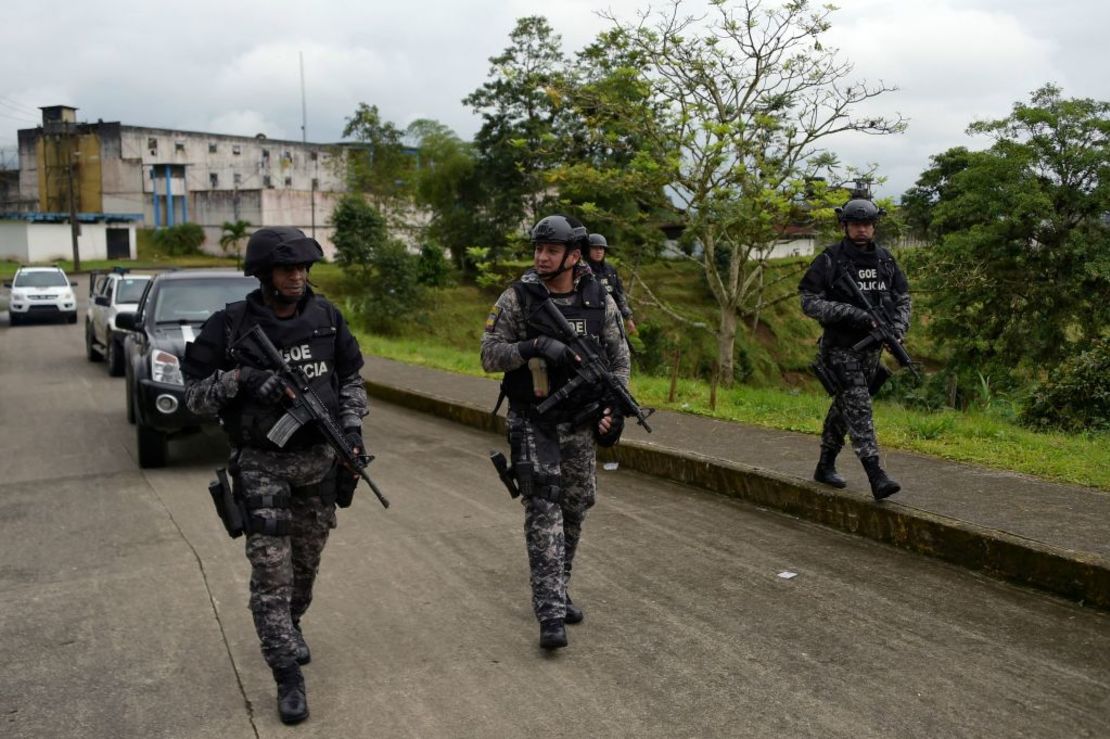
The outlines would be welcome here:
<svg viewBox="0 0 1110 739">
<path fill-rule="evenodd" d="M 533 465 L 539 479 L 554 480 L 558 502 L 522 496 L 524 540 L 532 570 L 532 609 L 541 621 L 566 616 L 566 586 L 582 537 L 582 524 L 597 497 L 597 446 L 591 426 L 551 427 L 508 414 L 513 464 Z"/>
</svg>

